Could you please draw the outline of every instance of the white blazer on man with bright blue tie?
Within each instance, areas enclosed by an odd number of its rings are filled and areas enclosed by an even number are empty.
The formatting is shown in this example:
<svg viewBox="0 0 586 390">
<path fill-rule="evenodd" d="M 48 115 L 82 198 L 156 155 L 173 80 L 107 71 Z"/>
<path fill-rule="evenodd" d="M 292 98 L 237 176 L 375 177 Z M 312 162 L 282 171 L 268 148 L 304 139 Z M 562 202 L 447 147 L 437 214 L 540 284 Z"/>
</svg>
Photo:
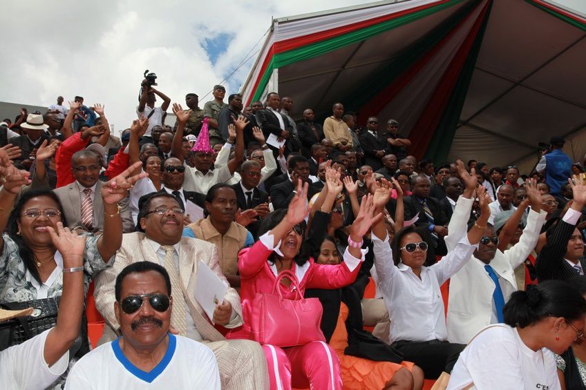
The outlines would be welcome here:
<svg viewBox="0 0 586 390">
<path fill-rule="evenodd" d="M 490 262 L 499 276 L 504 302 L 507 302 L 511 294 L 517 290 L 514 270 L 535 248 L 541 226 L 545 223 L 545 215 L 544 211 L 539 214 L 533 210 L 529 211 L 527 226 L 523 229 L 519 242 L 504 252 L 497 249 L 495 257 Z M 450 224 L 450 235 L 457 233 L 452 230 Z M 453 242 L 446 240 L 446 246 L 448 251 L 451 251 Z M 447 315 L 449 342 L 468 344 L 484 326 L 491 324 L 495 284 L 484 269 L 484 265 L 472 256 L 471 260 L 451 277 Z"/>
</svg>

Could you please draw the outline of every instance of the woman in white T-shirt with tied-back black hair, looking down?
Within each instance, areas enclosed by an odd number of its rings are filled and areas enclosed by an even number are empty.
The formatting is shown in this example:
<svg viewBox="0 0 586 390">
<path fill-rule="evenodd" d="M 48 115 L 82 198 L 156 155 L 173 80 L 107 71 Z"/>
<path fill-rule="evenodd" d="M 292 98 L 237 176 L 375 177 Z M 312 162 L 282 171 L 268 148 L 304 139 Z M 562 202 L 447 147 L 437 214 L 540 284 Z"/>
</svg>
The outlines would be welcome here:
<svg viewBox="0 0 586 390">
<path fill-rule="evenodd" d="M 516 291 L 504 324 L 487 326 L 460 353 L 447 389 L 560 389 L 554 353 L 583 338 L 585 314 L 586 300 L 565 282 Z"/>
</svg>

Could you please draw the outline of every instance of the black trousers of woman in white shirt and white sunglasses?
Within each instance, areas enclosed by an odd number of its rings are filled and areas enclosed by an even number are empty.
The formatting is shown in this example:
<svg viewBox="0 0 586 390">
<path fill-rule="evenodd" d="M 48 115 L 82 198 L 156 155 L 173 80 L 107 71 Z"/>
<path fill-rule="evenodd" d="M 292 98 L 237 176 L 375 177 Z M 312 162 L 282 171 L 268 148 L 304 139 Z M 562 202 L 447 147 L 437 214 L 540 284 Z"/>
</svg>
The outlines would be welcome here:
<svg viewBox="0 0 586 390">
<path fill-rule="evenodd" d="M 390 344 L 403 354 L 404 360 L 414 362 L 421 367 L 426 379 L 437 379 L 442 371 L 451 373 L 465 344 L 453 344 L 447 341 L 396 341 Z"/>
</svg>

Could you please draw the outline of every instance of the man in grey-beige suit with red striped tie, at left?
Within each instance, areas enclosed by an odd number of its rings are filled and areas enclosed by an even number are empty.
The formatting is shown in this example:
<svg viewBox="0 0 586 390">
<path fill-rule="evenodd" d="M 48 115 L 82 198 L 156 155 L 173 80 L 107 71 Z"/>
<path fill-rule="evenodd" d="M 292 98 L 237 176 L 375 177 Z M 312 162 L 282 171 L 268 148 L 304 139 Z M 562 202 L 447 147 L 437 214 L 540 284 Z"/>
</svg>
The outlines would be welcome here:
<svg viewBox="0 0 586 390">
<path fill-rule="evenodd" d="M 55 190 L 63 205 L 68 228 L 82 228 L 93 233 L 104 230 L 104 204 L 99 195 L 102 190 L 100 168 L 102 164 L 91 150 L 79 150 L 71 157 L 75 182 Z M 124 233 L 130 233 L 134 231 L 134 224 L 128 199 L 122 199 L 119 206 L 122 229 Z"/>
</svg>

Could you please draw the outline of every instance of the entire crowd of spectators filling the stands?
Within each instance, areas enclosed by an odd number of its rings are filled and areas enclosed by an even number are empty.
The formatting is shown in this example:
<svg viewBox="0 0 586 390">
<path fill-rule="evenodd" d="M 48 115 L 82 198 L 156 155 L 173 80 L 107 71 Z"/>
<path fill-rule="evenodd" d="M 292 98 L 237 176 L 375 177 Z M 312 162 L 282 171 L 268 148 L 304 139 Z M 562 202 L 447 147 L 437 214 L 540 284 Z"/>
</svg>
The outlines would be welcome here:
<svg viewBox="0 0 586 390">
<path fill-rule="evenodd" d="M 146 81 L 120 138 L 79 96 L 0 124 L 0 305 L 58 302 L 24 342 L 30 311 L 0 311 L 1 387 L 585 387 L 586 175 L 563 138 L 524 176 L 436 165 L 341 103 L 295 121 L 292 97 L 216 85 L 184 109 Z"/>
</svg>

